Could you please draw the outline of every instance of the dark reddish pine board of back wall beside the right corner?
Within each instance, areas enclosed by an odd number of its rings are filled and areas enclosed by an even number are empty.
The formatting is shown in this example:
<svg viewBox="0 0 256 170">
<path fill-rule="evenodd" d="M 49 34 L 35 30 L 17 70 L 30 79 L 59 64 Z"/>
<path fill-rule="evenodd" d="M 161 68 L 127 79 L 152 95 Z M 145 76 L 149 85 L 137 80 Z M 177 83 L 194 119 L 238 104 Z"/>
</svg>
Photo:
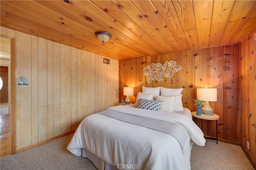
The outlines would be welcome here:
<svg viewBox="0 0 256 170">
<path fill-rule="evenodd" d="M 226 81 L 224 86 L 225 122 L 224 136 L 228 141 L 241 143 L 241 115 L 240 115 L 240 47 L 237 44 L 226 45 L 224 54 L 224 74 Z M 225 134 L 226 133 L 226 134 Z"/>
</svg>

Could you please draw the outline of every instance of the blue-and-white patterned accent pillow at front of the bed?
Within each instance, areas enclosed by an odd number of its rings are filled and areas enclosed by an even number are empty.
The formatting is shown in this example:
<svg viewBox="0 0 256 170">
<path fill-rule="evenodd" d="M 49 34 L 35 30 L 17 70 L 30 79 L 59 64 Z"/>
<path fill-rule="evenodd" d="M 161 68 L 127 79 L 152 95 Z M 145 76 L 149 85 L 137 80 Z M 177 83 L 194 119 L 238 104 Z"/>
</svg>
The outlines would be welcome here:
<svg viewBox="0 0 256 170">
<path fill-rule="evenodd" d="M 138 108 L 160 111 L 163 102 L 164 102 L 163 100 L 146 100 L 141 98 Z"/>
</svg>

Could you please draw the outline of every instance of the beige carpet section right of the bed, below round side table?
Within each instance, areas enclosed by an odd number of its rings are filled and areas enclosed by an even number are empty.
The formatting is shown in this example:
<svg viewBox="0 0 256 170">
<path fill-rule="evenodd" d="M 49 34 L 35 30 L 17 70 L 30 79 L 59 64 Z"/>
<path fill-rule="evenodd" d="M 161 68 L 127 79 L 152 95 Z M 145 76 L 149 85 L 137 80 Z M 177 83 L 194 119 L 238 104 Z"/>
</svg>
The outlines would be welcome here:
<svg viewBox="0 0 256 170">
<path fill-rule="evenodd" d="M 190 163 L 192 170 L 254 170 L 240 146 L 209 139 L 193 145 Z"/>
</svg>

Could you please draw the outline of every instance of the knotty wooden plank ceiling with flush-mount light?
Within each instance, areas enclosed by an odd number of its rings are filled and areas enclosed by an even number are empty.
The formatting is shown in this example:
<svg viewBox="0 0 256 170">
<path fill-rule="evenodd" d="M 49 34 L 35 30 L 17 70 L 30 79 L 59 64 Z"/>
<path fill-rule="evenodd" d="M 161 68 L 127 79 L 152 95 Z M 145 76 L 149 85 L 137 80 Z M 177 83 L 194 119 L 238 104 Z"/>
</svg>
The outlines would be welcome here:
<svg viewBox="0 0 256 170">
<path fill-rule="evenodd" d="M 256 0 L 1 0 L 0 10 L 3 27 L 117 60 L 240 42 L 256 25 Z"/>
</svg>

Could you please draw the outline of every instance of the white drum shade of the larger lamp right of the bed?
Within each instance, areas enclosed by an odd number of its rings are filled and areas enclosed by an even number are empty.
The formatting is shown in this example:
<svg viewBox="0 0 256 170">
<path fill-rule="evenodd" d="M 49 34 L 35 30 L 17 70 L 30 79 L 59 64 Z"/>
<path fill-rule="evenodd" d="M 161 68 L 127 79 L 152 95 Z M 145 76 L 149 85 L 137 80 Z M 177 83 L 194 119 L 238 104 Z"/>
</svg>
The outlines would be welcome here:
<svg viewBox="0 0 256 170">
<path fill-rule="evenodd" d="M 217 89 L 216 88 L 198 88 L 197 100 L 216 102 L 217 101 Z"/>
</svg>

